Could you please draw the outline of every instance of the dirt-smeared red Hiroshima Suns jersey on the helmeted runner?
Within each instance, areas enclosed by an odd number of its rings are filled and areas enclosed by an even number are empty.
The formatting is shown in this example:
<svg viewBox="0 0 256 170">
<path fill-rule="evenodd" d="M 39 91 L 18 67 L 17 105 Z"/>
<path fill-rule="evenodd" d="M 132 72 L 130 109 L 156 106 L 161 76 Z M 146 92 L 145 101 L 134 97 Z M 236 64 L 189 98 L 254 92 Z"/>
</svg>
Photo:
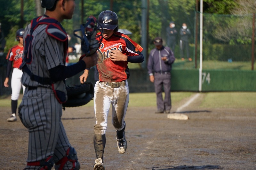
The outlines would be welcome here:
<svg viewBox="0 0 256 170">
<path fill-rule="evenodd" d="M 98 35 L 100 35 L 100 33 L 98 33 Z M 99 39 L 98 37 L 98 40 Z M 98 63 L 95 69 L 96 81 L 121 82 L 129 78 L 128 61 L 110 60 L 110 51 L 112 49 L 119 50 L 127 56 L 142 55 L 141 51 L 143 50 L 139 44 L 120 32 L 115 32 L 108 39 L 103 38 L 98 49 Z M 138 61 L 137 63 L 140 62 L 141 61 Z"/>
</svg>

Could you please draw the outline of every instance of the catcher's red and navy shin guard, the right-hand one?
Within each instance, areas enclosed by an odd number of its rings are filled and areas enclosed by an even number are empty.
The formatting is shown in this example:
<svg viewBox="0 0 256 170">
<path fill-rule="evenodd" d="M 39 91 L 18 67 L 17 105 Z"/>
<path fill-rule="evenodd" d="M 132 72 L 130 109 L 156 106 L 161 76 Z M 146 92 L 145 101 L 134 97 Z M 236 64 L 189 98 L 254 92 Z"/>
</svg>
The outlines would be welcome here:
<svg viewBox="0 0 256 170">
<path fill-rule="evenodd" d="M 59 162 L 55 164 L 54 168 L 58 170 L 63 170 L 65 164 L 69 161 L 69 164 L 66 165 L 66 169 L 68 168 L 68 170 L 79 170 L 80 164 L 77 160 L 78 159 L 75 148 L 70 147 L 67 150 L 67 156 L 60 159 Z"/>
</svg>

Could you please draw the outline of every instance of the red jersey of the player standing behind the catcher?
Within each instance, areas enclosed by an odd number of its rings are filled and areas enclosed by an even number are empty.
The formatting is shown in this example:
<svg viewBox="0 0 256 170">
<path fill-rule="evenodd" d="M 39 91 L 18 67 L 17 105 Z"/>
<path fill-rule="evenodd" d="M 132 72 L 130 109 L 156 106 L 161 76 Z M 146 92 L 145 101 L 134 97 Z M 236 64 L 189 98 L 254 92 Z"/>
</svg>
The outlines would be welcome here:
<svg viewBox="0 0 256 170">
<path fill-rule="evenodd" d="M 20 47 L 18 45 L 13 46 L 7 56 L 6 59 L 13 61 L 13 68 L 19 68 L 20 64 L 22 63 L 22 53 L 23 53 L 23 47 Z"/>
</svg>

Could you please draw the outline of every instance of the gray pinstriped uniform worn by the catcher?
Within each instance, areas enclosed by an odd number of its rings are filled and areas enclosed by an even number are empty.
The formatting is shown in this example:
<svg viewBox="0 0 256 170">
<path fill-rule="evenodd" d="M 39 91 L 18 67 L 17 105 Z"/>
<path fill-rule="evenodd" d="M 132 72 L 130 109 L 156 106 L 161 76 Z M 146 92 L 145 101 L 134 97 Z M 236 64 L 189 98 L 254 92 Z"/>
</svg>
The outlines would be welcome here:
<svg viewBox="0 0 256 170">
<path fill-rule="evenodd" d="M 37 26 L 32 34 L 33 57 L 27 66 L 34 75 L 49 78 L 49 69 L 65 65 L 65 53 L 63 42 L 49 36 L 45 32 L 46 26 Z M 29 33 L 30 24 L 25 29 L 24 40 Z M 24 41 L 24 47 L 25 43 Z M 54 96 L 51 85 L 41 85 L 32 81 L 26 72 L 23 73 L 21 82 L 25 86 L 37 87 L 26 88 L 19 107 L 20 120 L 29 132 L 27 162 L 44 160 L 49 156 L 53 156 L 54 162 L 58 162 L 66 156 L 66 151 L 71 146 L 61 122 L 61 104 Z M 70 169 L 72 166 L 68 164 L 65 166 Z M 35 166 L 26 166 L 25 169 L 34 168 L 36 169 Z"/>
</svg>

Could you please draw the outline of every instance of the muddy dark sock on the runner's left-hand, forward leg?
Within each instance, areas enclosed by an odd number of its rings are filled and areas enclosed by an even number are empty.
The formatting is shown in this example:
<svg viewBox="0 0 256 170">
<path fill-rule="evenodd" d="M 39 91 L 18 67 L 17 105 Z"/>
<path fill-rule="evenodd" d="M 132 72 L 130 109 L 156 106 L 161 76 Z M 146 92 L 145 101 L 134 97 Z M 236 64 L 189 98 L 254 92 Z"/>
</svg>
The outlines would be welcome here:
<svg viewBox="0 0 256 170">
<path fill-rule="evenodd" d="M 96 153 L 96 158 L 101 158 L 103 160 L 103 154 L 106 144 L 106 135 L 94 134 L 93 136 L 93 145 Z"/>
</svg>

